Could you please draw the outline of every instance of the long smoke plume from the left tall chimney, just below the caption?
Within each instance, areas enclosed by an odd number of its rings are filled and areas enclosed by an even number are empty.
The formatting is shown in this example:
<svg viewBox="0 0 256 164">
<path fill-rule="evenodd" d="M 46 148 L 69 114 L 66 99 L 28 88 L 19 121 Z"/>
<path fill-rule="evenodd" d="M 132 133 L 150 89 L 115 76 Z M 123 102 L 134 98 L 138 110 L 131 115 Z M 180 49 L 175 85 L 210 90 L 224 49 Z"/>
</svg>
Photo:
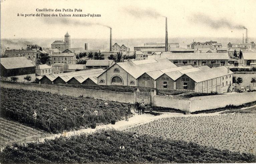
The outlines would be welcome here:
<svg viewBox="0 0 256 164">
<path fill-rule="evenodd" d="M 43 18 L 44 22 L 47 24 L 59 24 L 59 25 L 79 25 L 79 26 L 103 26 L 103 27 L 108 27 L 110 26 L 104 25 L 102 23 L 96 23 L 96 22 L 81 22 L 77 20 L 73 20 L 71 18 Z"/>
</svg>

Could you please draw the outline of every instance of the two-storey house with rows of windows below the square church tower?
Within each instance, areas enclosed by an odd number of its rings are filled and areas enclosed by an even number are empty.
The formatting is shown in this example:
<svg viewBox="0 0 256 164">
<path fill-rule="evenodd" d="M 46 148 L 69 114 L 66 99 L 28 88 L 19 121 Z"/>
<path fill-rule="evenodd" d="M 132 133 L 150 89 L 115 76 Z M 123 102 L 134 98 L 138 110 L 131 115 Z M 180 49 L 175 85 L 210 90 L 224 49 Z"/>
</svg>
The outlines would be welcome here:
<svg viewBox="0 0 256 164">
<path fill-rule="evenodd" d="M 52 53 L 51 63 L 66 63 L 66 64 L 76 64 L 76 54 L 75 53 Z"/>
</svg>

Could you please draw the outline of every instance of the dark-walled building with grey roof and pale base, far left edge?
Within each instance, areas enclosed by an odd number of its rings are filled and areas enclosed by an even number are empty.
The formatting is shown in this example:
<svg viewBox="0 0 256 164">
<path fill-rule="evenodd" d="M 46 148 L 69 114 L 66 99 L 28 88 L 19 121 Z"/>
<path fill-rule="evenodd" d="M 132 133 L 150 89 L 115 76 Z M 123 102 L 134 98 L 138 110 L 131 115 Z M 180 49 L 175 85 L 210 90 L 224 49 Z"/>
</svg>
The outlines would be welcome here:
<svg viewBox="0 0 256 164">
<path fill-rule="evenodd" d="M 1 80 L 11 80 L 17 77 L 18 82 L 27 82 L 24 77 L 31 76 L 31 81 L 35 81 L 35 66 L 25 57 L 1 58 Z"/>
</svg>

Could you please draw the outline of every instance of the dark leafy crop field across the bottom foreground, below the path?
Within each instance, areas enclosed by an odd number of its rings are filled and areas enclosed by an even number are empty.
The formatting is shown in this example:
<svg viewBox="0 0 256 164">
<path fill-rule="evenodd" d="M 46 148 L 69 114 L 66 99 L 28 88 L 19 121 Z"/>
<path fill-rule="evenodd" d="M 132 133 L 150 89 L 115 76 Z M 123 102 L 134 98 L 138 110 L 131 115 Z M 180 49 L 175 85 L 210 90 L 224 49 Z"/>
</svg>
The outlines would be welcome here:
<svg viewBox="0 0 256 164">
<path fill-rule="evenodd" d="M 107 138 L 106 136 L 110 136 Z M 69 138 L 14 144 L 0 154 L 1 163 L 236 163 L 256 162 L 252 154 L 234 153 L 183 141 L 110 129 Z M 124 146 L 124 149 L 120 149 Z M 121 147 L 122 148 L 122 147 Z"/>
</svg>

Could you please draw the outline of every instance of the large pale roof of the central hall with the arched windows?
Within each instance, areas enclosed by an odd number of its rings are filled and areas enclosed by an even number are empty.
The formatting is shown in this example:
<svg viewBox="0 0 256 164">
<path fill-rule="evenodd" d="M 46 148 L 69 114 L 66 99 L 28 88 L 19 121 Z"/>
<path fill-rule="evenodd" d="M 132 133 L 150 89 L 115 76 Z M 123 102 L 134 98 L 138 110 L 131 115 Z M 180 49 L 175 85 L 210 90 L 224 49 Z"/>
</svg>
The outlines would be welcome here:
<svg viewBox="0 0 256 164">
<path fill-rule="evenodd" d="M 175 64 L 173 64 L 166 58 L 122 62 L 116 64 L 120 66 L 122 69 L 124 69 L 127 73 L 132 75 L 135 79 L 139 78 L 146 72 L 177 67 Z"/>
</svg>

